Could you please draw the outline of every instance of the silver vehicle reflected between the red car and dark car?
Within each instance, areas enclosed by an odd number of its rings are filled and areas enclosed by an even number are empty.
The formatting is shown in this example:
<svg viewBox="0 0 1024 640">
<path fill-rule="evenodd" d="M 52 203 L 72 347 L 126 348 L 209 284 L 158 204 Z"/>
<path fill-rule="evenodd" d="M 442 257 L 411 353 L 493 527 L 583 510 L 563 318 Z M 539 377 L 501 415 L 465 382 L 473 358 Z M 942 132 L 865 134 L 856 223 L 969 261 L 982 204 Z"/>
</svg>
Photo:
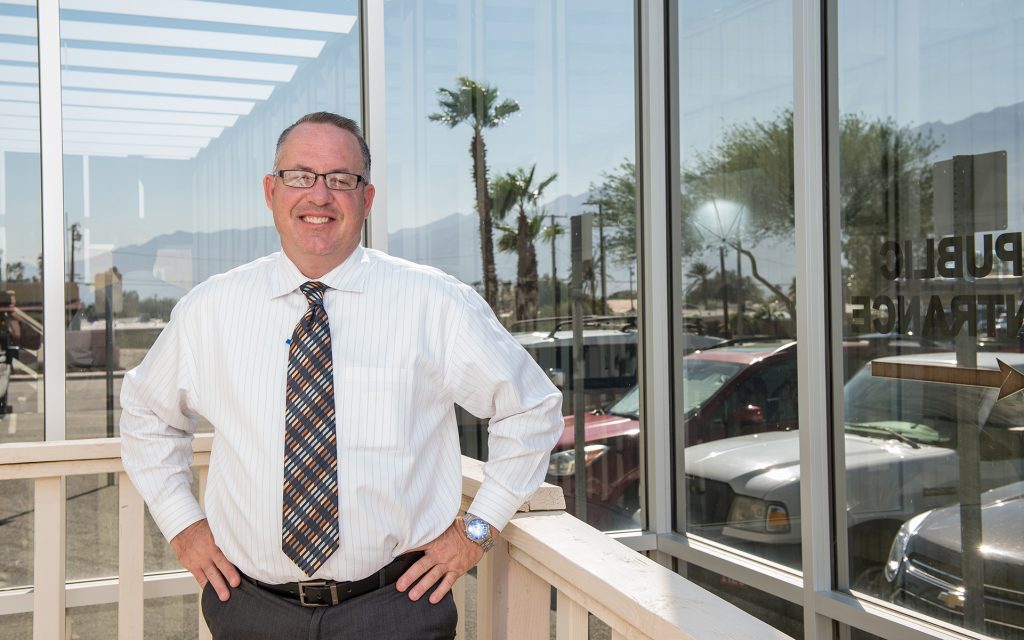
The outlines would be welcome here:
<svg viewBox="0 0 1024 640">
<path fill-rule="evenodd" d="M 1024 356 L 980 353 L 979 368 L 1015 367 Z M 955 354 L 881 361 L 955 366 Z M 877 360 L 878 361 L 878 360 Z M 871 376 L 845 386 L 847 526 L 854 583 L 886 562 L 900 525 L 948 505 L 958 493 L 957 402 L 977 417 L 983 488 L 1024 472 L 1024 396 L 996 401 L 994 388 L 959 387 Z M 800 452 L 796 432 L 760 433 L 686 449 L 689 530 L 785 564 L 799 565 Z"/>
</svg>

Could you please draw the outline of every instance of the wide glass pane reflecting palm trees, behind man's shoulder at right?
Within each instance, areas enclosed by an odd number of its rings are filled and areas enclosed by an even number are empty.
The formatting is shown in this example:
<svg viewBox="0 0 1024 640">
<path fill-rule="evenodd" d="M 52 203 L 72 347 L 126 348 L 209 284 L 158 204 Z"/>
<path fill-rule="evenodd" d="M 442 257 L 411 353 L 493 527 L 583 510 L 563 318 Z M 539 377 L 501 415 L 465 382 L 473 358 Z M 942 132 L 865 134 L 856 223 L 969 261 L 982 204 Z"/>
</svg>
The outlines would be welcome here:
<svg viewBox="0 0 1024 640">
<path fill-rule="evenodd" d="M 385 5 L 388 251 L 475 287 L 562 389 L 548 480 L 605 529 L 640 523 L 637 411 L 608 409 L 637 384 L 633 4 Z M 573 259 L 581 214 L 592 250 Z M 485 459 L 483 422 L 459 424 Z"/>
</svg>

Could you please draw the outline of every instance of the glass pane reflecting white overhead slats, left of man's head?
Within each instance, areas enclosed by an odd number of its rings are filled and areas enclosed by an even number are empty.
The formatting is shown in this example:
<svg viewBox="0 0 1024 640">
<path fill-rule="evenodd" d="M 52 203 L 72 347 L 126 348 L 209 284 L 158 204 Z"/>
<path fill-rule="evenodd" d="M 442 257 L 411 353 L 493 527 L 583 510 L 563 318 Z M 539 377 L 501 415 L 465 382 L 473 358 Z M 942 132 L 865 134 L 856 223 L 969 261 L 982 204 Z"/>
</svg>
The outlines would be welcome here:
<svg viewBox="0 0 1024 640">
<path fill-rule="evenodd" d="M 117 435 L 124 372 L 182 295 L 279 249 L 262 177 L 300 116 L 361 120 L 358 32 L 355 0 L 61 3 L 69 438 Z M 114 479 L 68 496 L 69 578 L 116 574 Z M 177 568 L 148 515 L 145 536 L 146 570 Z"/>
</svg>

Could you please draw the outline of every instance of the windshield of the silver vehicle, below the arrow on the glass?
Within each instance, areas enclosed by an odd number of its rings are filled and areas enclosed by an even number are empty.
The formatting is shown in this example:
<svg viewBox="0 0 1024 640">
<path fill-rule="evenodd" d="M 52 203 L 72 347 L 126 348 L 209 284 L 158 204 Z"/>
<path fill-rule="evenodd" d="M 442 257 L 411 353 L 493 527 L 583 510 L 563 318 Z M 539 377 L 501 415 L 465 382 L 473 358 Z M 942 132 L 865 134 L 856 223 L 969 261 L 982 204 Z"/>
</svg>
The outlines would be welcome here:
<svg viewBox="0 0 1024 640">
<path fill-rule="evenodd" d="M 912 444 L 955 446 L 957 399 L 962 407 L 972 408 L 969 415 L 979 428 L 1010 429 L 1021 423 L 1022 394 L 995 398 L 996 390 L 991 388 L 876 378 L 868 365 L 846 385 L 846 431 Z"/>
</svg>

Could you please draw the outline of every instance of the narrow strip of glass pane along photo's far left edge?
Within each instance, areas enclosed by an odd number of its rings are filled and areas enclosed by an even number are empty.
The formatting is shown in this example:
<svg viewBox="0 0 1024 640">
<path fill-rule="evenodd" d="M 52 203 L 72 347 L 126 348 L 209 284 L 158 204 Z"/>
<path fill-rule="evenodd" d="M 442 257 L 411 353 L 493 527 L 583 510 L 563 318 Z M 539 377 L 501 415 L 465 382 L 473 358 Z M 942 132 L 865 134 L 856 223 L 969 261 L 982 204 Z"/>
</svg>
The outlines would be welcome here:
<svg viewBox="0 0 1024 640">
<path fill-rule="evenodd" d="M 0 2 L 0 442 L 43 439 L 35 3 Z"/>
</svg>

